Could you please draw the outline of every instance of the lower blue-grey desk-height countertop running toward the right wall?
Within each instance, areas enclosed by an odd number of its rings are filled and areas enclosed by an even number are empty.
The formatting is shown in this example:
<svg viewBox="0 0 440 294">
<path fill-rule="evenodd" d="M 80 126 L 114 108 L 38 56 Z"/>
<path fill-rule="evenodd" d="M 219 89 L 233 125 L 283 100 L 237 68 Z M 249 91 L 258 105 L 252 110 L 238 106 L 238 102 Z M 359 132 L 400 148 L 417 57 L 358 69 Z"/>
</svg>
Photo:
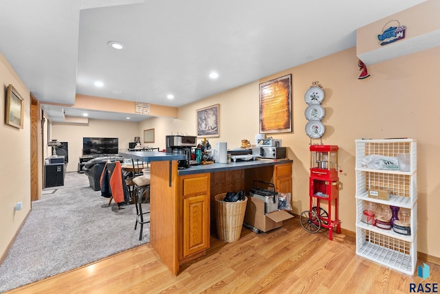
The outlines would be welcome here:
<svg viewBox="0 0 440 294">
<path fill-rule="evenodd" d="M 203 172 L 223 172 L 228 170 L 243 170 L 246 168 L 259 168 L 261 166 L 275 166 L 276 164 L 292 163 L 291 159 L 278 161 L 265 160 L 250 160 L 250 161 L 236 161 L 231 163 L 212 163 L 202 164 L 200 166 L 191 166 L 184 170 L 178 170 L 179 176 L 185 174 L 201 174 Z"/>
</svg>

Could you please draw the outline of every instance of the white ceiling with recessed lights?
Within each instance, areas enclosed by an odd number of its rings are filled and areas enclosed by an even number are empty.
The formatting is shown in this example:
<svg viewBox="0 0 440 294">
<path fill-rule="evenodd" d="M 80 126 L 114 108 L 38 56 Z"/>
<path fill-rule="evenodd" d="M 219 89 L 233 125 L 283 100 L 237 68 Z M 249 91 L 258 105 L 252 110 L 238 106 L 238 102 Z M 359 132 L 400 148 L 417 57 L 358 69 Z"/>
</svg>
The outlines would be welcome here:
<svg viewBox="0 0 440 294">
<path fill-rule="evenodd" d="M 3 0 L 0 52 L 42 103 L 78 93 L 182 106 L 354 47 L 359 27 L 424 1 Z M 87 111 L 43 109 L 54 122 Z"/>
</svg>

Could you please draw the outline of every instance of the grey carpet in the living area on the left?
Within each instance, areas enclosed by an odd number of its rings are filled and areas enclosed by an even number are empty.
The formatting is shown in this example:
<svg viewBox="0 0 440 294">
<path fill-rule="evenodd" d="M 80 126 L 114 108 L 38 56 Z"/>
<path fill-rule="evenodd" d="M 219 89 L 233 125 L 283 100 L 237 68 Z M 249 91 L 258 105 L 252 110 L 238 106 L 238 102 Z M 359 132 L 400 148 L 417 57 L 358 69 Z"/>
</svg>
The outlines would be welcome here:
<svg viewBox="0 0 440 294">
<path fill-rule="evenodd" d="M 4 262 L 0 292 L 89 264 L 150 241 L 150 226 L 134 230 L 135 206 L 118 210 L 85 174 L 67 172 L 65 185 L 43 190 Z M 144 206 L 145 205 L 145 206 Z M 142 205 L 147 210 L 149 204 Z"/>
</svg>

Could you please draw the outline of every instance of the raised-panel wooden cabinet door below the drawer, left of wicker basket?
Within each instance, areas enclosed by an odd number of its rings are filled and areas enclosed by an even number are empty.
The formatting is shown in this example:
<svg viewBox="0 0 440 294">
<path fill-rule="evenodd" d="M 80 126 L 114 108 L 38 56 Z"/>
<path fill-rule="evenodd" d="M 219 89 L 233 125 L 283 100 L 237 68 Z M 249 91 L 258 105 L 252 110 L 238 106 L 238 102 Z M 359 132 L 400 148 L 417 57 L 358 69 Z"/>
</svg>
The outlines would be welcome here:
<svg viewBox="0 0 440 294">
<path fill-rule="evenodd" d="M 209 214 L 207 194 L 184 199 L 184 257 L 209 247 Z"/>
</svg>

